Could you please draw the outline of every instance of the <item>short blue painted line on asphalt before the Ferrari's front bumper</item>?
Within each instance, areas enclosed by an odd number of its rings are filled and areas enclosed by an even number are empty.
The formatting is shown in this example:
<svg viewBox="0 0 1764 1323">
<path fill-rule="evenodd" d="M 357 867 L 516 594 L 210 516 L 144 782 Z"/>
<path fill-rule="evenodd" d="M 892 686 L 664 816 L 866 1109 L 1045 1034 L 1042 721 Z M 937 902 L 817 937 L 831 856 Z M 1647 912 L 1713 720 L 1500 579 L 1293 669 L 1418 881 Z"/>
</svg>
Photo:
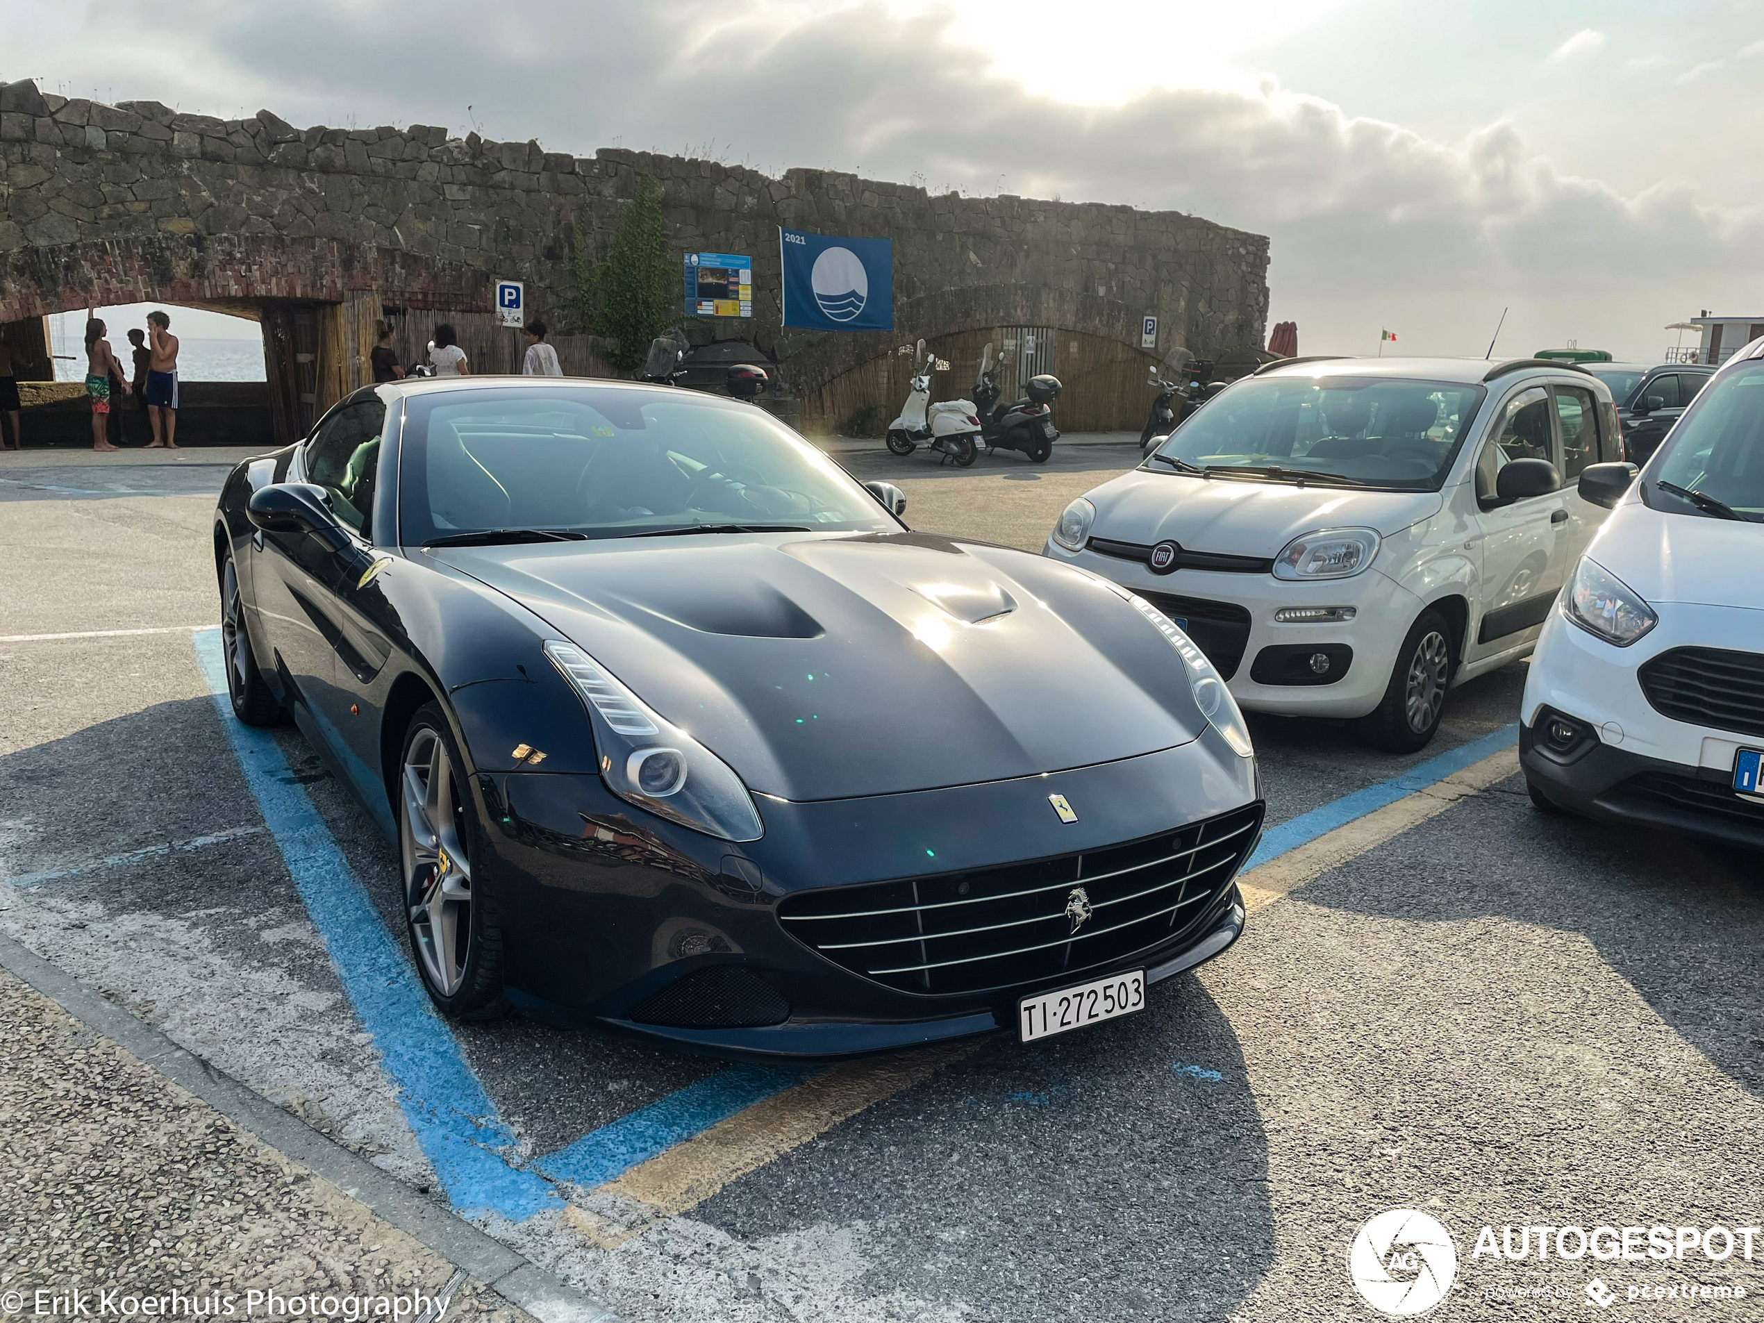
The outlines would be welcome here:
<svg viewBox="0 0 1764 1323">
<path fill-rule="evenodd" d="M 598 1131 L 589 1131 L 566 1148 L 534 1162 L 534 1170 L 582 1189 L 616 1180 L 639 1162 L 663 1154 L 755 1102 L 820 1074 L 813 1065 L 730 1065 L 727 1071 L 686 1085 Z"/>
</svg>

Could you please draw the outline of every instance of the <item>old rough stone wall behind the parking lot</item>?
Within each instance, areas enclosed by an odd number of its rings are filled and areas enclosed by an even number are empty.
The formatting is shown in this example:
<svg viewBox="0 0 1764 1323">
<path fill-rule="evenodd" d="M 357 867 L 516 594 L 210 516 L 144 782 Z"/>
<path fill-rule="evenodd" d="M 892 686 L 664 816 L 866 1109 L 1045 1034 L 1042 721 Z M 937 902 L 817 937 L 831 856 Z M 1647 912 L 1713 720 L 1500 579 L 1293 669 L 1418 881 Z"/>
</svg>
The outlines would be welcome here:
<svg viewBox="0 0 1764 1323">
<path fill-rule="evenodd" d="M 755 316 L 690 323 L 748 339 L 811 392 L 917 335 L 1046 325 L 1157 355 L 1261 346 L 1268 242 L 1177 212 L 931 196 L 833 171 L 769 178 L 714 161 L 407 129 L 295 129 L 157 102 L 65 101 L 0 85 L 0 321 L 88 303 L 272 300 L 489 310 L 496 279 L 556 312 L 570 258 L 603 252 L 640 176 L 663 187 L 676 252 L 744 252 Z M 780 325 L 778 226 L 894 240 L 891 333 Z M 323 377 L 325 374 L 321 374 Z M 335 376 L 335 374 L 333 374 Z M 344 372 L 339 379 L 348 379 Z"/>
</svg>

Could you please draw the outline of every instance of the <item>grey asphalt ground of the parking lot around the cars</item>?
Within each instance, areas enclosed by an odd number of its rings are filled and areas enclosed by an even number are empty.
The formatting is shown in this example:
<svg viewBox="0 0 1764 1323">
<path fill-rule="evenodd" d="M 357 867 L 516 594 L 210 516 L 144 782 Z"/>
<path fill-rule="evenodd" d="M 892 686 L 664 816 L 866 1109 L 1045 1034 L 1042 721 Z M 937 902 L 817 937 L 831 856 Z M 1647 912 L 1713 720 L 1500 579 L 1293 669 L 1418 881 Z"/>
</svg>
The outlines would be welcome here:
<svg viewBox="0 0 1764 1323">
<path fill-rule="evenodd" d="M 1134 462 L 1124 441 L 972 469 L 829 450 L 898 483 L 916 527 L 1039 550 L 1073 496 Z M 455 1187 L 411 1120 L 422 1081 L 386 1037 L 406 1028 L 372 1014 L 312 912 L 265 778 L 310 804 L 339 886 L 402 949 L 397 861 L 291 730 L 242 762 L 199 667 L 226 459 L 0 457 L 0 931 L 445 1210 Z M 1411 781 L 1388 796 L 1395 826 L 1325 838 L 1330 866 L 1267 891 L 1244 938 L 1154 988 L 1147 1014 L 764 1087 L 522 1018 L 443 1030 L 497 1159 L 540 1191 L 533 1210 L 455 1212 L 626 1319 L 1365 1319 L 1348 1245 L 1392 1207 L 1452 1233 L 1443 1319 L 1596 1316 L 1593 1277 L 1614 1316 L 1760 1318 L 1764 1235 L 1753 1261 L 1473 1252 L 1484 1226 L 1764 1222 L 1757 859 L 1540 815 L 1487 757 L 1522 683 L 1517 665 L 1454 691 L 1409 759 L 1252 716 L 1270 826 Z M 1409 785 L 1452 785 L 1452 750 L 1480 778 L 1404 817 L 1438 794 Z M 0 1032 L 49 1041 L 30 1014 Z M 18 1053 L 5 1071 L 9 1125 L 64 1115 Z M 718 1111 L 734 1085 L 759 1101 Z M 78 1120 L 32 1120 L 64 1198 Z M 626 1152 L 637 1122 L 663 1140 L 605 1184 L 536 1175 L 572 1147 Z M 41 1222 L 21 1189 L 0 1187 L 0 1212 Z M 4 1235 L 0 1275 L 48 1261 Z M 1686 1284 L 1748 1297 L 1628 1297 Z"/>
</svg>

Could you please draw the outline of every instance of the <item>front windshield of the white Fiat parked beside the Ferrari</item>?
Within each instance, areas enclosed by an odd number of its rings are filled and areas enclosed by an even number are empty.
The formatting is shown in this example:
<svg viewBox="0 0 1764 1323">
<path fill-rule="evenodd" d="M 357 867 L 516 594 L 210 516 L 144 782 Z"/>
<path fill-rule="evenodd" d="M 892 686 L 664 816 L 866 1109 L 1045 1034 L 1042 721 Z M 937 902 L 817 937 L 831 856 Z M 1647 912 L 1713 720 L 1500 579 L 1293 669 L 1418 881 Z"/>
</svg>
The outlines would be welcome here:
<svg viewBox="0 0 1764 1323">
<path fill-rule="evenodd" d="M 1485 393 L 1480 385 L 1413 377 L 1252 377 L 1191 415 L 1148 467 L 1438 489 Z"/>
</svg>

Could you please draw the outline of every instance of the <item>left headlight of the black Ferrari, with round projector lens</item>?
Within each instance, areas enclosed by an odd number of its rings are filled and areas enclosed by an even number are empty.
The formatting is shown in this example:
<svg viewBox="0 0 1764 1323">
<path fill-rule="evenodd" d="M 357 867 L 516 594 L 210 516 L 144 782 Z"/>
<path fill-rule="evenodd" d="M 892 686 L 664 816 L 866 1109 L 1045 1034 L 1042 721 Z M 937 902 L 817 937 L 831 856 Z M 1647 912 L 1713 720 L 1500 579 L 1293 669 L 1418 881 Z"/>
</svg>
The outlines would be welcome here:
<svg viewBox="0 0 1764 1323">
<path fill-rule="evenodd" d="M 580 647 L 545 644 L 545 656 L 582 695 L 594 725 L 600 776 L 619 799 L 725 841 L 766 834 L 753 796 L 727 762 L 607 672 Z"/>
</svg>

